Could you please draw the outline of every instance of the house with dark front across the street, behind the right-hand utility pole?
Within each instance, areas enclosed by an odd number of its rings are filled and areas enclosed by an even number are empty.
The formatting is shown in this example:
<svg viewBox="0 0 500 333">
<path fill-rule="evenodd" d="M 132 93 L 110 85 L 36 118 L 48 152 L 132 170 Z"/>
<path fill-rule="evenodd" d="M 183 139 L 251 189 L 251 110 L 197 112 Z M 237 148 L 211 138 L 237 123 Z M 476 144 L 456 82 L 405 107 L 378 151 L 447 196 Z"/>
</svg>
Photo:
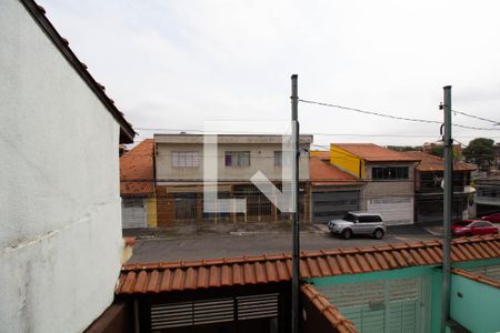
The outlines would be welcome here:
<svg viewBox="0 0 500 333">
<path fill-rule="evenodd" d="M 414 169 L 416 212 L 418 223 L 440 222 L 443 218 L 443 180 L 444 160 L 419 151 L 404 152 L 408 157 L 419 159 Z M 469 163 L 453 163 L 453 202 L 452 219 L 469 218 L 472 198 L 466 186 L 470 185 L 471 172 L 477 169 Z"/>
</svg>

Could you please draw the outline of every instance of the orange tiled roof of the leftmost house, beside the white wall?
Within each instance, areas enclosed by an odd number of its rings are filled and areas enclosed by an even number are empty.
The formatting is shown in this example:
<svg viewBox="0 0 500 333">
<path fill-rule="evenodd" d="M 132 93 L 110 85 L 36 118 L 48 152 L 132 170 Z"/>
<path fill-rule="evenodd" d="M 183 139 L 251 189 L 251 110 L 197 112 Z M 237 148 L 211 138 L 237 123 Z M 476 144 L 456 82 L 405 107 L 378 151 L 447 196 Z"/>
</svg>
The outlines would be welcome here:
<svg viewBox="0 0 500 333">
<path fill-rule="evenodd" d="M 120 194 L 154 193 L 154 141 L 146 139 L 120 158 Z"/>
</svg>

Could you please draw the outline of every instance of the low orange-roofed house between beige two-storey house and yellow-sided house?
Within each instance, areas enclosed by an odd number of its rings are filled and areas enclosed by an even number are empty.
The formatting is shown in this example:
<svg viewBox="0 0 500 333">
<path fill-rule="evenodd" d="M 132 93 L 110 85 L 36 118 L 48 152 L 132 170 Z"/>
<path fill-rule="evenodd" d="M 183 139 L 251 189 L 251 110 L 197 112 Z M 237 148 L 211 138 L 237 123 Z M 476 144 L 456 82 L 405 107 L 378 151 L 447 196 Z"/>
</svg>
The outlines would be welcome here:
<svg viewBox="0 0 500 333">
<path fill-rule="evenodd" d="M 363 183 L 330 163 L 330 152 L 311 152 L 311 221 L 327 223 L 359 211 Z"/>
</svg>

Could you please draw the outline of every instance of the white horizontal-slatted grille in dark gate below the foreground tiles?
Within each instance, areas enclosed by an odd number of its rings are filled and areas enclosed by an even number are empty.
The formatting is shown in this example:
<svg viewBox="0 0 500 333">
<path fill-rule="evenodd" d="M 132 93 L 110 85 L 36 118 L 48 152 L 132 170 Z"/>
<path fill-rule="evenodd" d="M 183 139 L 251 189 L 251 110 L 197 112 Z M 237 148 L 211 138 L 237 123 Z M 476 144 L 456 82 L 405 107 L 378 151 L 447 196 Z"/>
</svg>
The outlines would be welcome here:
<svg viewBox="0 0 500 333">
<path fill-rule="evenodd" d="M 151 305 L 151 330 L 277 317 L 279 294 Z"/>
</svg>

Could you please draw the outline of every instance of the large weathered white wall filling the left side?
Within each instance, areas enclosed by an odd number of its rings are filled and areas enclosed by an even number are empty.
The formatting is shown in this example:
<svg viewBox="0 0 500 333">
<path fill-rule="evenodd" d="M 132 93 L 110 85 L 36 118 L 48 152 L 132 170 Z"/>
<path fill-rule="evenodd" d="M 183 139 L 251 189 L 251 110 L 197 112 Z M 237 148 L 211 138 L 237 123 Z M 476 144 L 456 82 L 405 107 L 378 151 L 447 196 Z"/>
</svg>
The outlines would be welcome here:
<svg viewBox="0 0 500 333">
<path fill-rule="evenodd" d="M 80 332 L 120 270 L 119 125 L 18 0 L 0 42 L 0 331 Z"/>
</svg>

